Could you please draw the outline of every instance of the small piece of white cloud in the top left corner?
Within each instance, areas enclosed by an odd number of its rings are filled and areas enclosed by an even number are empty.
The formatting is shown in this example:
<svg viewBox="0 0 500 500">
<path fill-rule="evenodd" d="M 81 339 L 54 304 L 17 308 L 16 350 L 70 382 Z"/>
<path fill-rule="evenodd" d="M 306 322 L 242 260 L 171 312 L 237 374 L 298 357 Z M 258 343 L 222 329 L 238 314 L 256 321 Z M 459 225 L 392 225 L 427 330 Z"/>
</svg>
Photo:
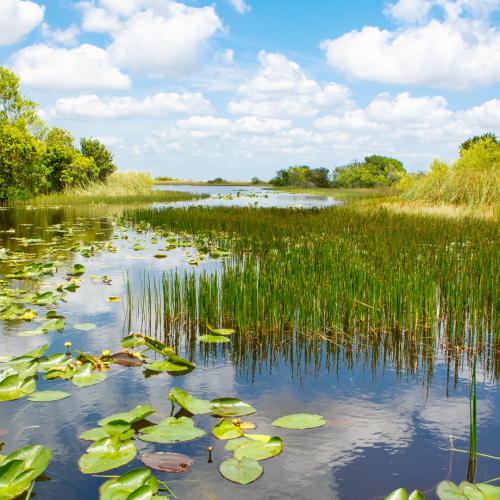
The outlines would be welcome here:
<svg viewBox="0 0 500 500">
<path fill-rule="evenodd" d="M 42 21 L 43 5 L 23 0 L 0 1 L 0 45 L 10 45 L 21 40 Z"/>
</svg>

